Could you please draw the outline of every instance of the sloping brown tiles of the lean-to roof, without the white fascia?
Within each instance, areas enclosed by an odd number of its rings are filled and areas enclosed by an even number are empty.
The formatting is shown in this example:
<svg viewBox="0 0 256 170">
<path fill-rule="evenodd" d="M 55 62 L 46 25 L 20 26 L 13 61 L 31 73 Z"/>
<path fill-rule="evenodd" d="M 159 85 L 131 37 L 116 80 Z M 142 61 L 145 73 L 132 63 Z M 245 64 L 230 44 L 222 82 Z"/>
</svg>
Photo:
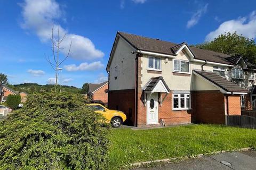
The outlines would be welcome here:
<svg viewBox="0 0 256 170">
<path fill-rule="evenodd" d="M 200 70 L 193 70 L 195 73 L 201 75 L 203 78 L 209 80 L 210 82 L 214 83 L 216 86 L 220 87 L 221 89 L 228 91 L 228 92 L 248 92 L 246 89 L 241 88 L 237 84 L 228 81 L 226 78 L 220 77 L 220 75 L 209 72 L 209 71 L 200 71 Z"/>
</svg>

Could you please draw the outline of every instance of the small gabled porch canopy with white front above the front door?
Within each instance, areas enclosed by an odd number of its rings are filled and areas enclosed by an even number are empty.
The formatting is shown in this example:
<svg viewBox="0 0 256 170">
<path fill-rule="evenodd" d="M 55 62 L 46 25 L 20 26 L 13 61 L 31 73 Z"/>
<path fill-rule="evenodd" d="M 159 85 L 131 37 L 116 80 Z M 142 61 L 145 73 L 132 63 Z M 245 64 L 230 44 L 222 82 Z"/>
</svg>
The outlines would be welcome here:
<svg viewBox="0 0 256 170">
<path fill-rule="evenodd" d="M 153 94 L 154 92 L 158 92 L 159 96 L 159 103 L 162 105 L 162 94 L 169 94 L 170 89 L 167 86 L 166 82 L 164 81 L 163 77 L 153 77 L 146 83 L 146 85 L 142 88 L 144 92 L 144 99 L 143 103 L 146 105 L 147 99 Z"/>
</svg>

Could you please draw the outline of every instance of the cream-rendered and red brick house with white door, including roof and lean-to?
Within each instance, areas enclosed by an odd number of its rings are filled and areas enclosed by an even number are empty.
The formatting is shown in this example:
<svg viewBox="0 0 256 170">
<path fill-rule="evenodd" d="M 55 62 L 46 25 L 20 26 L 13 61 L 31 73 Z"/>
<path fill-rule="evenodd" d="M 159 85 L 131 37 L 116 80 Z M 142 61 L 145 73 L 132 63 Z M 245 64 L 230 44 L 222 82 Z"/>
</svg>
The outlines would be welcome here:
<svg viewBox="0 0 256 170">
<path fill-rule="evenodd" d="M 247 74 L 254 84 L 254 70 L 240 58 L 117 32 L 106 68 L 108 107 L 134 126 L 225 124 L 227 115 L 241 115 Z"/>
</svg>

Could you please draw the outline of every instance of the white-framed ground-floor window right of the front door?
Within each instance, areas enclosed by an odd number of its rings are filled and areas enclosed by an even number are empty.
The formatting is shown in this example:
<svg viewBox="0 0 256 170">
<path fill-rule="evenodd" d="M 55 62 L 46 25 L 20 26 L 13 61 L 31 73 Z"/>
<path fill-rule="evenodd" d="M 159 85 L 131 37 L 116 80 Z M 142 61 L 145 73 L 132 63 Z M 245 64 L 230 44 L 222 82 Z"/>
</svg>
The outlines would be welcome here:
<svg viewBox="0 0 256 170">
<path fill-rule="evenodd" d="M 190 94 L 173 94 L 173 109 L 190 109 Z"/>
</svg>

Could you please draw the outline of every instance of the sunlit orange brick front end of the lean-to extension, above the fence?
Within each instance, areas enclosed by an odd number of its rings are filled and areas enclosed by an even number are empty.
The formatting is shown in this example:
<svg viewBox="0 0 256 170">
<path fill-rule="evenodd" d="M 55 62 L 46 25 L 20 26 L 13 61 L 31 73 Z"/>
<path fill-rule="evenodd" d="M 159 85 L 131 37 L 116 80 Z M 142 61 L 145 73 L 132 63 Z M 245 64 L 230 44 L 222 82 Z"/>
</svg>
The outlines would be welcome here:
<svg viewBox="0 0 256 170">
<path fill-rule="evenodd" d="M 228 96 L 228 114 L 241 115 L 240 95 Z"/>
</svg>

